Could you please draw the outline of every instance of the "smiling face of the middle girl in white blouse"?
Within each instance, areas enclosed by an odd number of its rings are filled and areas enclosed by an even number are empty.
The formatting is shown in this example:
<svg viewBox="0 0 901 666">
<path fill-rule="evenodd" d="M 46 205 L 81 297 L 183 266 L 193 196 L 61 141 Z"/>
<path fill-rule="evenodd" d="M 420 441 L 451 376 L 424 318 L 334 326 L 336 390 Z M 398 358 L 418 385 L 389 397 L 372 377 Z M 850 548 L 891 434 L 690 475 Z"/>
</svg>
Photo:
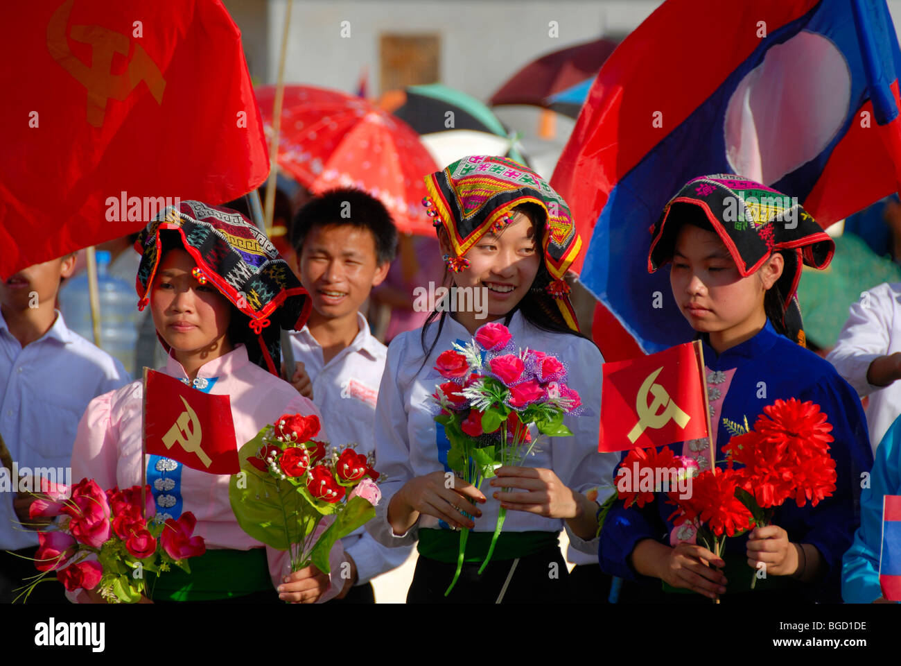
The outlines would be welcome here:
<svg viewBox="0 0 901 666">
<path fill-rule="evenodd" d="M 456 319 L 469 328 L 501 319 L 513 310 L 532 288 L 542 263 L 532 219 L 520 210 L 511 214 L 511 222 L 498 234 L 487 233 L 466 253 L 469 268 L 454 273 L 457 287 L 484 288 L 487 293 L 487 319 L 475 319 L 474 312 L 458 312 Z M 441 253 L 451 254 L 446 238 L 441 237 Z M 471 319 L 471 322 L 470 322 Z"/>
</svg>

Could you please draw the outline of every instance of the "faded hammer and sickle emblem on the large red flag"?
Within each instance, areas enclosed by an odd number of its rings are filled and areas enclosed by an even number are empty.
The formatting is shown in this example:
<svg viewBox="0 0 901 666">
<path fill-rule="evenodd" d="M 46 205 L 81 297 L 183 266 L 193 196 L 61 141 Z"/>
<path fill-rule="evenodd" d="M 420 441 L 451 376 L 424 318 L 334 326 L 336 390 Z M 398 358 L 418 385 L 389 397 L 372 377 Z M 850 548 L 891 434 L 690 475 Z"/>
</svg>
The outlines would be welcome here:
<svg viewBox="0 0 901 666">
<path fill-rule="evenodd" d="M 87 89 L 87 122 L 94 127 L 103 125 L 106 100 L 112 98 L 123 101 L 141 81 L 147 83 L 157 104 L 162 104 L 166 79 L 163 79 L 159 67 L 150 60 L 141 44 L 135 44 L 134 55 L 124 74 L 110 73 L 113 54 L 128 55 L 131 39 L 127 35 L 99 25 L 73 25 L 72 39 L 92 47 L 90 67 L 78 60 L 66 41 L 66 23 L 74 2 L 75 0 L 67 0 L 59 5 L 59 9 L 50 17 L 50 23 L 47 23 L 47 48 L 53 60 Z"/>
</svg>

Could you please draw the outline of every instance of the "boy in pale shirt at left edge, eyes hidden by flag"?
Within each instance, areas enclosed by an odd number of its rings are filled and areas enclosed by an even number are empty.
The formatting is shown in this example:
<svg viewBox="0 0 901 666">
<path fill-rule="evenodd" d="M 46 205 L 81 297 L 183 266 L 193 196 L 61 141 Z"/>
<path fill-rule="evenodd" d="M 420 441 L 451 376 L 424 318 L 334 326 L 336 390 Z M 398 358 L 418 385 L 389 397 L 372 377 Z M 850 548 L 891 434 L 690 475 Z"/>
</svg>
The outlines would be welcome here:
<svg viewBox="0 0 901 666">
<path fill-rule="evenodd" d="M 67 470 L 87 403 L 131 381 L 118 360 L 66 328 L 54 307 L 59 284 L 74 266 L 75 254 L 68 254 L 0 282 L 0 434 L 20 474 L 50 468 L 57 476 L 50 480 L 66 484 L 80 480 L 68 478 Z M 37 534 L 18 524 L 31 523 L 34 497 L 27 490 L 37 488 L 32 481 L 18 492 L 18 475 L 12 469 L 0 474 L 0 603 L 10 603 L 23 578 L 37 573 L 16 557 L 31 558 L 37 549 Z M 61 586 L 39 585 L 29 602 L 66 599 Z"/>
</svg>

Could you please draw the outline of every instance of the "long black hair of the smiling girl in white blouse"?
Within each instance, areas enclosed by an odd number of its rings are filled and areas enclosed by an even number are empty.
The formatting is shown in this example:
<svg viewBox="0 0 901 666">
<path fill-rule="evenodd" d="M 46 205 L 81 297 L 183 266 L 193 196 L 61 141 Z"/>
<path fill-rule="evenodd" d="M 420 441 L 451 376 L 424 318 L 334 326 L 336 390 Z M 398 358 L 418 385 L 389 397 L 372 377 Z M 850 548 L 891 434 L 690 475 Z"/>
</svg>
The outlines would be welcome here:
<svg viewBox="0 0 901 666">
<path fill-rule="evenodd" d="M 535 279 L 532 281 L 532 286 L 529 291 L 526 292 L 525 296 L 523 296 L 516 305 L 514 305 L 513 309 L 506 313 L 504 325 L 509 326 L 514 314 L 519 311 L 522 312 L 523 319 L 528 321 L 535 328 L 551 333 L 568 333 L 577 338 L 590 339 L 581 332 L 569 328 L 566 320 L 563 319 L 563 316 L 560 314 L 557 303 L 551 298 L 551 295 L 545 291 L 545 287 L 551 283 L 552 278 L 551 273 L 548 272 L 548 267 L 544 262 L 542 253 L 542 237 L 544 236 L 544 227 L 547 224 L 544 208 L 538 204 L 525 203 L 514 208 L 514 211 L 523 213 L 523 215 L 529 217 L 532 221 L 535 247 L 537 252 L 542 255 L 542 261 L 541 264 L 539 264 L 538 273 L 535 274 Z M 446 287 L 450 287 L 453 284 L 451 272 L 447 268 L 444 269 L 444 278 L 441 283 Z M 438 339 L 441 338 L 441 329 L 444 328 L 445 317 L 447 317 L 446 310 L 432 310 L 432 312 L 429 313 L 428 318 L 425 319 L 425 323 L 423 323 L 423 328 L 420 332 L 420 343 L 423 346 L 423 365 L 420 366 L 420 370 L 425 366 L 425 362 L 428 360 L 429 356 L 432 356 L 432 351 L 434 351 L 435 346 L 438 344 Z M 438 330 L 435 332 L 435 337 L 432 339 L 432 344 L 430 345 L 427 336 L 429 329 L 432 328 L 435 323 L 435 319 L 438 320 Z"/>
</svg>

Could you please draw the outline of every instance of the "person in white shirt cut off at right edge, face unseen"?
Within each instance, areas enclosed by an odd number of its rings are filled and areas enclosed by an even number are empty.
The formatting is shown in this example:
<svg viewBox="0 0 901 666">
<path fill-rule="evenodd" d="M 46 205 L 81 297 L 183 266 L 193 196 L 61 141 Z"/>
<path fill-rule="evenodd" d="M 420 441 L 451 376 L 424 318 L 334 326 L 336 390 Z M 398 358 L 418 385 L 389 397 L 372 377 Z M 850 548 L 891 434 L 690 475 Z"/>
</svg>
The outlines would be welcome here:
<svg viewBox="0 0 901 666">
<path fill-rule="evenodd" d="M 861 398 L 869 396 L 867 428 L 875 453 L 901 414 L 901 282 L 864 291 L 850 311 L 826 360 Z"/>
</svg>

